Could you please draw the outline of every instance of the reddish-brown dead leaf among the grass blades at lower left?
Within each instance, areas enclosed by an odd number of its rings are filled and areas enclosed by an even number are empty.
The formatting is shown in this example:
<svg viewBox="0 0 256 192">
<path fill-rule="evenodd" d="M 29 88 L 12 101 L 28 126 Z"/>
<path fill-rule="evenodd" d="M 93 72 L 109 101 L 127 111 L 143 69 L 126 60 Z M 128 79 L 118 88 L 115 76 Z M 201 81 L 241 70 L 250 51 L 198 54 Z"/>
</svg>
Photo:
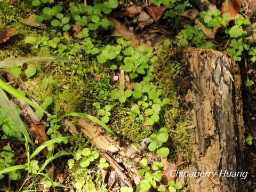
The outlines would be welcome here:
<svg viewBox="0 0 256 192">
<path fill-rule="evenodd" d="M 34 138 L 34 140 L 38 140 L 39 145 L 42 145 L 45 141 L 49 140 L 47 134 L 45 133 L 45 126 L 41 123 L 31 122 L 29 131 L 32 137 Z M 42 153 L 44 154 L 45 157 L 48 156 L 46 148 L 42 150 Z"/>
</svg>

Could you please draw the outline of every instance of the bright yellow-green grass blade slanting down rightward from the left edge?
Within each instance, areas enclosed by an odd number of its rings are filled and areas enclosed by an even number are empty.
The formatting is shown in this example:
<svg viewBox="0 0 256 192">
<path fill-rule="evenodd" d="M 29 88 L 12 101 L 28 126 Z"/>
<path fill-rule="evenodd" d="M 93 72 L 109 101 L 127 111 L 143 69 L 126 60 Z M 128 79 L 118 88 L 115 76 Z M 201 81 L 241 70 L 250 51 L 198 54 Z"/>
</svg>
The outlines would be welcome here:
<svg viewBox="0 0 256 192">
<path fill-rule="evenodd" d="M 41 108 L 36 103 L 32 102 L 30 99 L 26 98 L 20 91 L 14 89 L 12 86 L 5 83 L 2 79 L 0 79 L 0 88 L 2 88 L 4 91 L 10 93 L 13 95 L 13 97 L 21 99 L 22 101 L 26 102 L 31 107 L 34 107 L 35 109 L 44 111 L 45 114 L 50 115 L 47 111 L 45 111 L 43 108 Z"/>
</svg>

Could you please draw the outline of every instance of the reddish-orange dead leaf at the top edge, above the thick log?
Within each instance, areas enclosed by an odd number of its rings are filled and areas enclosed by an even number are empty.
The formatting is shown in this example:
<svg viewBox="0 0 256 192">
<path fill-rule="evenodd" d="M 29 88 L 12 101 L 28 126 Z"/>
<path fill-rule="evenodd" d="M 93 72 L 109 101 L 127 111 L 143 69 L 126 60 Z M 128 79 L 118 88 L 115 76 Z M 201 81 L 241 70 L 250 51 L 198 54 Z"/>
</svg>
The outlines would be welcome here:
<svg viewBox="0 0 256 192">
<path fill-rule="evenodd" d="M 228 0 L 222 3 L 222 7 L 221 7 L 222 14 L 229 13 L 229 20 L 227 22 L 229 22 L 230 20 L 233 20 L 236 17 L 236 15 L 241 10 L 241 6 L 242 6 L 242 3 L 240 0 Z"/>
</svg>

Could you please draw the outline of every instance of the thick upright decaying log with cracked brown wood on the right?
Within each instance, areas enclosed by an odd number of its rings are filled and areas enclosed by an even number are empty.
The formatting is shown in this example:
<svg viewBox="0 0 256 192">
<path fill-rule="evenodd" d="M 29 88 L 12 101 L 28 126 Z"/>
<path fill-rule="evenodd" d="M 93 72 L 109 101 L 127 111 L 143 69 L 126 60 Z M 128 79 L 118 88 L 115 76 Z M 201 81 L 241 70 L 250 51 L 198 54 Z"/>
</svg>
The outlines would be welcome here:
<svg viewBox="0 0 256 192">
<path fill-rule="evenodd" d="M 187 95 L 194 103 L 191 117 L 193 165 L 189 171 L 218 172 L 209 177 L 189 177 L 192 191 L 243 191 L 241 177 L 219 177 L 222 171 L 243 169 L 244 133 L 241 78 L 236 63 L 225 53 L 186 49 L 183 59 L 194 76 Z M 223 174 L 222 174 L 223 175 Z"/>
</svg>

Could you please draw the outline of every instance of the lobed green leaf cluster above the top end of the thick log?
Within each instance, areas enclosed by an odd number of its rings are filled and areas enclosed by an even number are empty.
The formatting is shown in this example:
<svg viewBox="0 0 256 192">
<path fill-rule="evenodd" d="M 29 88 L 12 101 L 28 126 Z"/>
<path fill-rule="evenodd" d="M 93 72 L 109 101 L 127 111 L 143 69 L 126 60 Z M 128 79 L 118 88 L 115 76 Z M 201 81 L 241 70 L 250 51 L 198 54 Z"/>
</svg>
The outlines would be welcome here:
<svg viewBox="0 0 256 192">
<path fill-rule="evenodd" d="M 221 11 L 218 9 L 207 12 L 202 11 L 198 20 L 209 30 L 220 27 L 224 28 L 223 35 L 226 35 L 227 38 L 229 38 L 226 42 L 228 45 L 226 52 L 229 53 L 235 61 L 241 61 L 244 52 L 251 55 L 252 62 L 256 60 L 252 42 L 245 38 L 247 36 L 245 28 L 251 26 L 251 21 L 245 18 L 242 14 L 239 14 L 238 17 L 235 18 L 234 25 L 231 26 L 227 26 L 229 14 L 225 13 L 221 15 Z M 198 48 L 215 49 L 214 43 L 204 34 L 201 27 L 198 25 L 182 29 L 176 38 L 178 44 L 181 46 L 188 46 L 191 44 Z"/>
</svg>

